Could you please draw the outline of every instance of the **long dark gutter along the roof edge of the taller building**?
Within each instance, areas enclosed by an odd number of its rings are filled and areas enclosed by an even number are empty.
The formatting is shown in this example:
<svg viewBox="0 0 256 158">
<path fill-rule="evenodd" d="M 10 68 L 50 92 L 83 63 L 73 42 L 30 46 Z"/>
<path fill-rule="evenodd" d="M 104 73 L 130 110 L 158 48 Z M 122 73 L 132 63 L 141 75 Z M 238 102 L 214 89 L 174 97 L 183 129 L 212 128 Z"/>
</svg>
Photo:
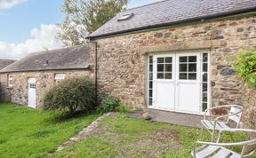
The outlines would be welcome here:
<svg viewBox="0 0 256 158">
<path fill-rule="evenodd" d="M 98 36 L 87 36 L 86 39 L 89 39 L 90 41 L 96 38 L 104 37 L 104 36 L 116 36 L 119 34 L 126 34 L 134 31 L 141 31 L 144 29 L 152 29 L 152 28 L 164 28 L 164 27 L 170 27 L 172 25 L 180 25 L 180 24 L 186 24 L 186 23 L 191 23 L 191 22 L 204 22 L 206 20 L 214 20 L 214 19 L 227 19 L 228 17 L 233 17 L 233 16 L 239 16 L 239 15 L 250 15 L 250 14 L 255 14 L 256 13 L 256 6 L 253 6 L 252 8 L 247 8 L 243 10 L 237 10 L 234 12 L 222 12 L 218 14 L 213 14 L 213 15 L 208 15 L 208 16 L 201 16 L 201 17 L 196 17 L 188 20 L 179 20 L 179 21 L 174 21 L 174 22 L 169 22 L 169 23 L 164 23 L 164 24 L 156 24 L 156 25 L 150 25 L 146 27 L 140 27 L 140 28 L 131 28 L 131 29 L 126 29 L 123 31 L 116 31 L 108 34 L 102 34 Z M 225 16 L 225 17 L 223 17 Z"/>
</svg>

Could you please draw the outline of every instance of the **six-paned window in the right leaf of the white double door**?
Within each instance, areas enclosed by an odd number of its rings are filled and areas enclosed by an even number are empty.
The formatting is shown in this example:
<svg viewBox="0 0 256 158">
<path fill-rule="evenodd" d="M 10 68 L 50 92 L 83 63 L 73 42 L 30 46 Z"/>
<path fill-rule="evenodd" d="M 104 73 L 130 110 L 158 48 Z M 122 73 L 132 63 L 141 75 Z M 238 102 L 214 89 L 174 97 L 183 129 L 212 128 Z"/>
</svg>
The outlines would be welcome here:
<svg viewBox="0 0 256 158">
<path fill-rule="evenodd" d="M 179 58 L 180 80 L 196 80 L 196 56 L 182 56 Z"/>
</svg>

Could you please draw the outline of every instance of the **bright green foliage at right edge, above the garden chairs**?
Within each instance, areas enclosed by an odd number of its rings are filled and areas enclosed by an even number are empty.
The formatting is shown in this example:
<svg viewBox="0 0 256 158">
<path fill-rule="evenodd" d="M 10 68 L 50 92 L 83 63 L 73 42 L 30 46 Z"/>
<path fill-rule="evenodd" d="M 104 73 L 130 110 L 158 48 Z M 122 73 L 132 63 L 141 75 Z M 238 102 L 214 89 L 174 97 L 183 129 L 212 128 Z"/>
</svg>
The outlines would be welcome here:
<svg viewBox="0 0 256 158">
<path fill-rule="evenodd" d="M 232 63 L 232 66 L 245 83 L 256 89 L 256 48 L 252 50 L 243 49 L 236 56 L 236 61 Z"/>
</svg>

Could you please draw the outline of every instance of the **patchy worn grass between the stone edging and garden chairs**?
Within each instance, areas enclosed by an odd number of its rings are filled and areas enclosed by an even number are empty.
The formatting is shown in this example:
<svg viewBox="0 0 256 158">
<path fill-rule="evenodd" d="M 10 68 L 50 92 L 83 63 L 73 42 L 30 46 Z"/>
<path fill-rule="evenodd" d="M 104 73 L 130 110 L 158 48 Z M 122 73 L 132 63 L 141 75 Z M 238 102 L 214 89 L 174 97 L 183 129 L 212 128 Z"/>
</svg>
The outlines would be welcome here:
<svg viewBox="0 0 256 158">
<path fill-rule="evenodd" d="M 192 157 L 190 152 L 199 135 L 199 129 L 116 115 L 106 118 L 90 138 L 55 157 Z M 229 136 L 225 138 L 231 141 Z"/>
</svg>

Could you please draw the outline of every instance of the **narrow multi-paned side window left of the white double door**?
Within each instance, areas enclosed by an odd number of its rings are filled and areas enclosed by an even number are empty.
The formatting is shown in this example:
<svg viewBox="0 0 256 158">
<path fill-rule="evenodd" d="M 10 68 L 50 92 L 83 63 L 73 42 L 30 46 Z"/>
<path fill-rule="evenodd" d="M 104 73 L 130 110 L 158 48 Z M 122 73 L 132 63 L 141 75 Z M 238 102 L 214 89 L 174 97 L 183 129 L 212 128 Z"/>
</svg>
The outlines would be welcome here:
<svg viewBox="0 0 256 158">
<path fill-rule="evenodd" d="M 149 56 L 148 62 L 148 106 L 153 102 L 153 56 Z"/>
</svg>

